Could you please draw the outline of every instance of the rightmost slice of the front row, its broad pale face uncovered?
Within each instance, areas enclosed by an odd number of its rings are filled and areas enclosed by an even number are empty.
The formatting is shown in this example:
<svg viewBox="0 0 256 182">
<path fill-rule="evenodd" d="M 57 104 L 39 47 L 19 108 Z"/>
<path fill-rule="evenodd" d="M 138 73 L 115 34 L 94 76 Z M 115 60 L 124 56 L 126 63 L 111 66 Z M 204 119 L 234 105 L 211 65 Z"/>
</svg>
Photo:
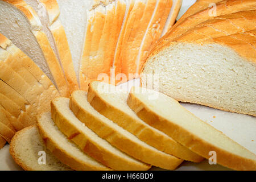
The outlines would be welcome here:
<svg viewBox="0 0 256 182">
<path fill-rule="evenodd" d="M 152 94 L 158 97 L 148 99 Z M 145 88 L 132 88 L 127 103 L 149 125 L 197 154 L 209 158 L 209 152 L 215 151 L 217 163 L 222 166 L 236 170 L 256 169 L 255 154 L 201 121 L 171 97 Z"/>
</svg>

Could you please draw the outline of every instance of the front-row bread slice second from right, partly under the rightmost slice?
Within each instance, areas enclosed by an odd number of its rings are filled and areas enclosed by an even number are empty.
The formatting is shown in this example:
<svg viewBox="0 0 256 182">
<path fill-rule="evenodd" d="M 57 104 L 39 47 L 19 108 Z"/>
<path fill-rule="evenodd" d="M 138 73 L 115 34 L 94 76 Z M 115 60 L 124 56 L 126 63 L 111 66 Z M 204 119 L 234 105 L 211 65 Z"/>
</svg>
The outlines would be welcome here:
<svg viewBox="0 0 256 182">
<path fill-rule="evenodd" d="M 139 119 L 126 104 L 127 97 L 128 93 L 104 82 L 94 81 L 89 85 L 88 102 L 106 118 L 160 151 L 193 162 L 203 160 L 201 156 Z"/>
</svg>

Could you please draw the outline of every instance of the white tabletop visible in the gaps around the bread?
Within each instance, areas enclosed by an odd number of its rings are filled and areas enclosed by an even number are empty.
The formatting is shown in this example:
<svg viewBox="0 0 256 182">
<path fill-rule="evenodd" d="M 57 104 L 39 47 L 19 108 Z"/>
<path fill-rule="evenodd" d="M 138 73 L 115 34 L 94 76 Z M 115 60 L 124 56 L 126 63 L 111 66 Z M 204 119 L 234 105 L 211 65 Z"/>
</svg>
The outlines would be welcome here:
<svg viewBox="0 0 256 182">
<path fill-rule="evenodd" d="M 183 14 L 195 0 L 183 0 L 181 14 Z M 178 17 L 178 18 L 179 18 Z M 139 80 L 130 81 L 128 84 L 120 85 L 121 88 L 129 90 L 131 86 L 139 85 Z M 243 147 L 256 154 L 256 118 L 249 115 L 229 113 L 210 107 L 195 105 L 195 104 L 182 104 L 186 109 L 194 113 L 203 121 L 208 122 L 216 129 L 222 131 L 228 137 L 232 138 Z M 213 136 L 214 137 L 214 136 Z M 217 159 L 218 161 L 218 159 Z M 9 154 L 9 146 L 5 146 L 0 150 L 0 170 L 21 170 L 21 168 L 14 163 Z M 159 170 L 153 167 L 152 170 Z M 210 165 L 207 160 L 202 163 L 183 162 L 179 168 L 183 170 L 229 170 L 228 168 L 220 165 Z"/>
</svg>

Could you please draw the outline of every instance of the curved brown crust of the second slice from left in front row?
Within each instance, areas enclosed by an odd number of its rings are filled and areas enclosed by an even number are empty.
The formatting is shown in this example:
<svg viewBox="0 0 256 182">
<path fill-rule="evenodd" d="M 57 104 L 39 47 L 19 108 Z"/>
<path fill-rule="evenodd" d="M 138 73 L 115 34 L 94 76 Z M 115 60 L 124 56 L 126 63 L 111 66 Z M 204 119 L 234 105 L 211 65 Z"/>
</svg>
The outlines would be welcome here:
<svg viewBox="0 0 256 182">
<path fill-rule="evenodd" d="M 46 131 L 46 129 L 43 127 L 42 121 L 40 121 L 41 117 L 41 115 L 38 115 L 37 123 L 44 144 L 48 150 L 51 151 L 52 154 L 60 160 L 60 162 L 77 171 L 112 171 L 112 169 L 108 167 L 93 166 L 90 163 L 86 163 L 80 159 L 77 159 L 76 156 L 72 155 L 67 150 L 67 148 L 61 147 L 58 141 L 55 138 L 52 138 L 51 135 L 48 134 L 48 131 Z"/>
</svg>

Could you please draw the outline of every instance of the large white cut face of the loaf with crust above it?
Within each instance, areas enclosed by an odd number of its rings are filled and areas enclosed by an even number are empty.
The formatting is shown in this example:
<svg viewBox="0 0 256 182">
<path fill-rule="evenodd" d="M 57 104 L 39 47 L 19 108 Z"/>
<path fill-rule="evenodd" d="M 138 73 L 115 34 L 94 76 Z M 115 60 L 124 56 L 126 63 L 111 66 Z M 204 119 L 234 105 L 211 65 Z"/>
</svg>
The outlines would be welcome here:
<svg viewBox="0 0 256 182">
<path fill-rule="evenodd" d="M 255 42 L 255 30 L 172 42 L 147 59 L 142 85 L 147 85 L 146 75 L 157 76 L 152 89 L 177 101 L 256 116 Z"/>
</svg>

